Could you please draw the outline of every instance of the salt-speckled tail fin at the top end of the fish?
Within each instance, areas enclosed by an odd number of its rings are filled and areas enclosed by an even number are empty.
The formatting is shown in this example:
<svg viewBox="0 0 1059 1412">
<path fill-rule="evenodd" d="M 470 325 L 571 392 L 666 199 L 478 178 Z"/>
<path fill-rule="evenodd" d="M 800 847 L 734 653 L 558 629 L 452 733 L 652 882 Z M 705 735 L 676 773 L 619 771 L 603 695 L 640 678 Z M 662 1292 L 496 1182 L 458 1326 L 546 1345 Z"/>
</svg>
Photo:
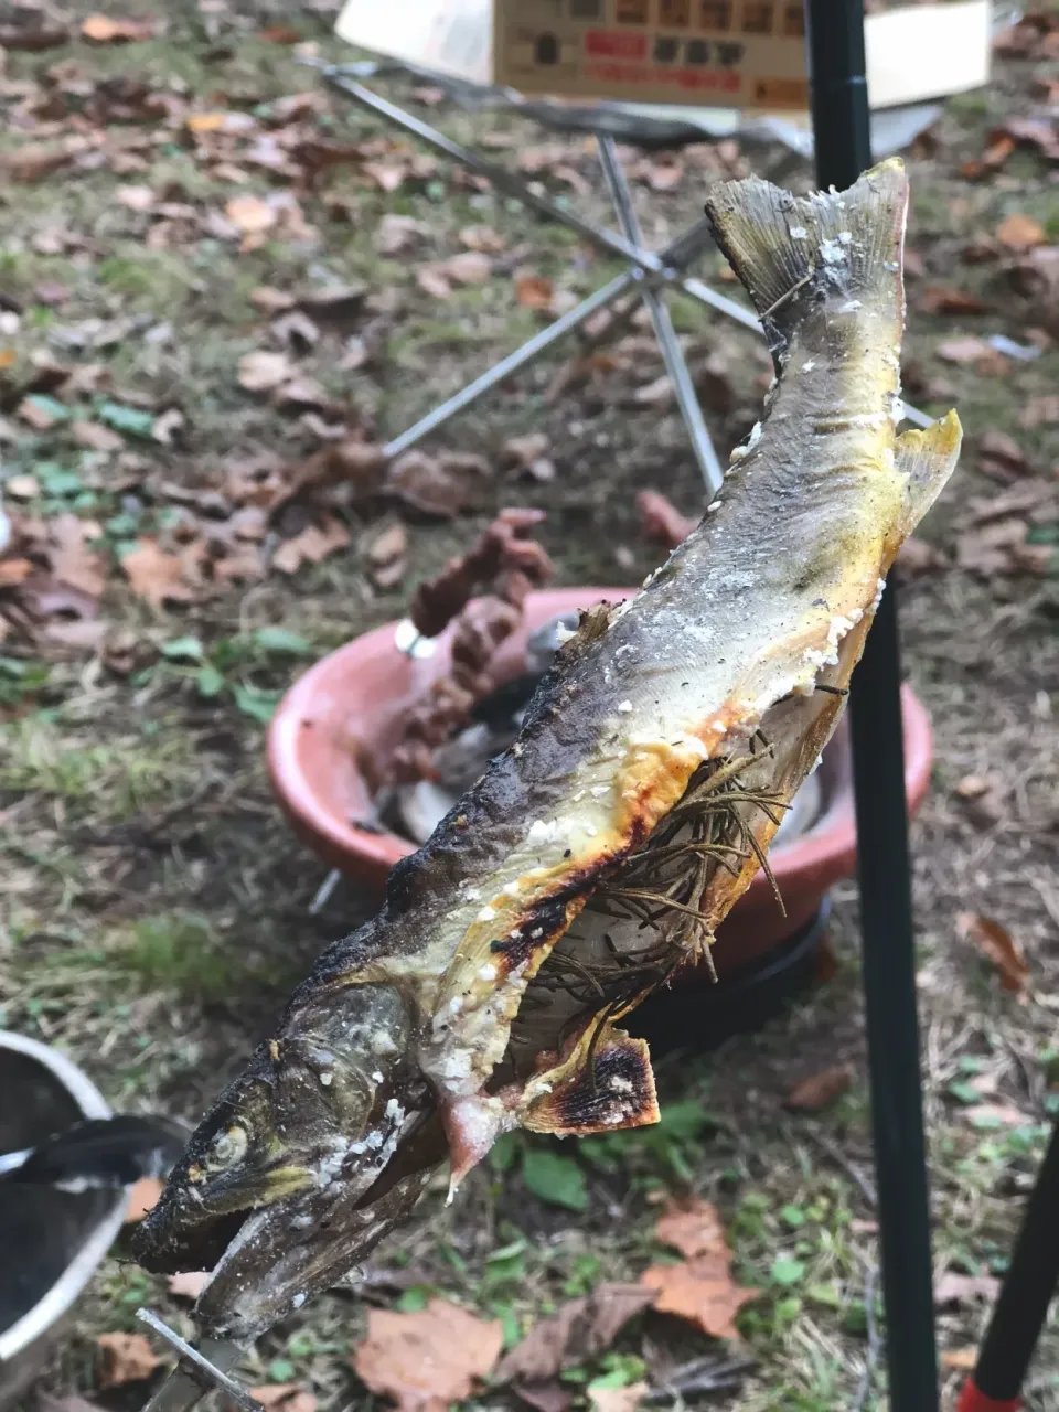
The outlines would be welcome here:
<svg viewBox="0 0 1059 1412">
<path fill-rule="evenodd" d="M 899 336 L 907 209 L 899 157 L 873 167 L 849 191 L 798 198 L 751 176 L 714 186 L 706 202 L 713 239 L 754 301 L 770 343 L 774 333 L 785 339 L 798 318 L 798 295 L 812 285 L 888 299 Z"/>
</svg>

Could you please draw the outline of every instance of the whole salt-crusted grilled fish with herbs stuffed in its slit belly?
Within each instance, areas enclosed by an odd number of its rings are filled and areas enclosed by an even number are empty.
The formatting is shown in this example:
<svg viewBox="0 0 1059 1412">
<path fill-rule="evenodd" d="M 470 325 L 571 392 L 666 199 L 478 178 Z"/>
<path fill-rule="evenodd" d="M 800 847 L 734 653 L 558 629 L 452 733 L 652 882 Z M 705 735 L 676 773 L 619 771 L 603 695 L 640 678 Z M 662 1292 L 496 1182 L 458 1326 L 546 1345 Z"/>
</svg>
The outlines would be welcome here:
<svg viewBox="0 0 1059 1412">
<path fill-rule="evenodd" d="M 955 414 L 897 436 L 905 209 L 898 161 L 809 199 L 710 193 L 775 361 L 762 421 L 702 524 L 635 599 L 589 614 L 515 744 L 203 1120 L 140 1251 L 203 1268 L 230 1241 L 205 1332 L 253 1337 L 342 1279 L 446 1145 L 459 1178 L 510 1127 L 657 1117 L 645 1046 L 614 1021 L 683 957 L 674 919 L 707 942 L 751 881 L 959 452 Z M 666 870 L 685 853 L 682 892 Z M 637 908 L 662 891 L 644 964 Z"/>
</svg>

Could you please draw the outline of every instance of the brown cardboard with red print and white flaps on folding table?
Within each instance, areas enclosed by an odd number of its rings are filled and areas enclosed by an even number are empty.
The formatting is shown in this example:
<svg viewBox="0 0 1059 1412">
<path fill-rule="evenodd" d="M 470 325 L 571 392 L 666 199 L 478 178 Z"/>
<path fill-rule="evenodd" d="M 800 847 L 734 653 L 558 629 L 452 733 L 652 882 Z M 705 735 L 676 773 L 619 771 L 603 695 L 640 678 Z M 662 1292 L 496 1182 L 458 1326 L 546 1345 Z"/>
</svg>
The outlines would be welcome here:
<svg viewBox="0 0 1059 1412">
<path fill-rule="evenodd" d="M 527 95 L 764 112 L 809 106 L 801 0 L 346 0 L 366 49 Z M 988 78 L 990 0 L 873 14 L 873 109 Z"/>
</svg>

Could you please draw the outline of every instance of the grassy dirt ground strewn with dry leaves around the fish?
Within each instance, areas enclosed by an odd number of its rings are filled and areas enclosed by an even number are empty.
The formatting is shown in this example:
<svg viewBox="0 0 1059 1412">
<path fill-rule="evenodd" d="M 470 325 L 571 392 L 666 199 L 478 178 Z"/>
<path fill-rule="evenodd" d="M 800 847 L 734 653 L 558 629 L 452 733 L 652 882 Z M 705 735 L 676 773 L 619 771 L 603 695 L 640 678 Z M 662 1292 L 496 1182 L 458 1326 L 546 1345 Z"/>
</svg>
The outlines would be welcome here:
<svg viewBox="0 0 1059 1412">
<path fill-rule="evenodd" d="M 311 912 L 326 868 L 292 839 L 263 761 L 278 695 L 401 616 L 497 507 L 548 511 L 558 582 L 635 583 L 658 556 L 635 491 L 692 514 L 702 489 L 633 308 L 428 442 L 411 490 L 361 496 L 346 479 L 292 494 L 328 446 L 402 431 L 617 265 L 325 93 L 301 62 L 345 56 L 322 11 L 138 7 L 131 42 L 90 42 L 89 10 L 58 17 L 69 40 L 54 48 L 11 47 L 0 76 L 0 479 L 14 527 L 0 558 L 0 1024 L 62 1048 L 116 1108 L 195 1118 L 313 955 L 371 907 L 343 882 Z M 905 381 L 931 414 L 956 405 L 967 431 L 899 600 L 936 753 L 912 832 L 935 1269 L 986 1276 L 942 1286 L 946 1405 L 1059 1111 L 1059 45 L 1045 31 L 1019 31 L 1028 52 L 998 55 L 991 86 L 952 100 L 907 154 Z M 603 210 L 583 140 L 380 88 Z M 789 154 L 734 143 L 626 160 L 659 246 L 719 176 L 810 184 Z M 720 265 L 709 251 L 698 273 L 737 297 Z M 767 359 L 699 306 L 674 302 L 674 316 L 726 455 L 757 418 Z M 537 432 L 527 469 L 507 443 Z M 387 559 L 374 546 L 397 525 L 407 544 Z M 1011 990 L 973 942 L 981 918 L 1025 956 Z M 515 1341 L 599 1281 L 635 1279 L 659 1252 L 659 1200 L 693 1190 L 717 1206 L 740 1284 L 760 1291 L 738 1317 L 753 1367 L 706 1404 L 887 1406 L 853 884 L 836 890 L 830 945 L 829 979 L 764 1029 L 659 1062 L 672 1114 L 659 1131 L 505 1148 L 455 1206 L 431 1193 L 373 1258 L 363 1299 L 318 1299 L 240 1377 L 298 1384 L 326 1409 L 376 1405 L 350 1367 L 367 1306 L 443 1293 Z M 837 1099 L 786 1107 L 836 1063 L 853 1073 Z M 544 1149 L 575 1168 L 545 1197 L 527 1179 L 527 1152 Z M 38 1392 L 138 1406 L 144 1382 L 100 1385 L 96 1339 L 133 1332 L 140 1305 L 192 1332 L 164 1279 L 109 1260 Z M 563 1387 L 585 1405 L 602 1372 L 658 1387 L 724 1353 L 648 1313 Z M 1052 1327 L 1034 1412 L 1059 1409 L 1056 1370 Z"/>
</svg>

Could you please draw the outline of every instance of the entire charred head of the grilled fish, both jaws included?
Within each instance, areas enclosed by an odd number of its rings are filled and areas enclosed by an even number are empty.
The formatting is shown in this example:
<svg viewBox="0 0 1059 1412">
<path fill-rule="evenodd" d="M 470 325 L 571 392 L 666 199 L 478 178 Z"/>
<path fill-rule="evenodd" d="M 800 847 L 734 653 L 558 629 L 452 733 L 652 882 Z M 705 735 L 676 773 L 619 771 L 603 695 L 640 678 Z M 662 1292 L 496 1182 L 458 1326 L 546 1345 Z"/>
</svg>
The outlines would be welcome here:
<svg viewBox="0 0 1059 1412">
<path fill-rule="evenodd" d="M 134 1236 L 148 1269 L 213 1269 L 196 1316 L 216 1336 L 254 1337 L 345 1278 L 445 1154 L 400 990 L 346 976 L 299 997 Z"/>
</svg>

